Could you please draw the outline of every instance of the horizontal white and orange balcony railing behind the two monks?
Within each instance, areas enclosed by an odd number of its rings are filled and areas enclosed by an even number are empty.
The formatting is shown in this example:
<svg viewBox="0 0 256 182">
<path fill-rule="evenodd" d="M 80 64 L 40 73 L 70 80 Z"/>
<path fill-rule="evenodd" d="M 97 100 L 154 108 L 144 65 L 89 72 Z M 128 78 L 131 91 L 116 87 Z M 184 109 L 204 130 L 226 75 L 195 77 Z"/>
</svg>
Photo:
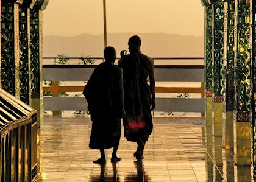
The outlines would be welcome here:
<svg viewBox="0 0 256 182">
<path fill-rule="evenodd" d="M 72 65 L 58 65 L 57 60 L 72 60 Z M 102 57 L 44 57 L 43 80 L 52 82 L 51 86 L 44 86 L 43 91 L 52 93 L 52 97 L 44 97 L 44 110 L 51 110 L 59 113 L 60 110 L 84 111 L 87 110 L 87 103 L 84 97 L 60 97 L 61 92 L 80 93 L 84 85 L 63 86 L 63 81 L 87 81 L 97 65 L 84 65 L 77 60 L 90 59 L 104 61 Z M 186 82 L 188 86 L 157 86 L 157 93 L 197 93 L 199 98 L 156 98 L 157 107 L 155 111 L 160 112 L 205 112 L 204 99 L 204 58 L 202 57 L 154 57 L 154 72 L 156 82 Z M 54 60 L 54 61 L 52 61 Z M 166 61 L 179 60 L 179 65 L 166 65 Z M 193 60 L 192 63 L 180 63 L 181 60 Z M 161 64 L 165 61 L 165 65 Z M 46 64 L 48 63 L 48 64 Z M 50 64 L 49 64 L 50 63 Z M 74 65 L 76 64 L 76 65 Z M 177 63 L 176 63 L 177 64 Z M 197 82 L 197 86 L 190 86 L 189 83 Z M 158 85 L 158 84 L 157 84 Z"/>
</svg>

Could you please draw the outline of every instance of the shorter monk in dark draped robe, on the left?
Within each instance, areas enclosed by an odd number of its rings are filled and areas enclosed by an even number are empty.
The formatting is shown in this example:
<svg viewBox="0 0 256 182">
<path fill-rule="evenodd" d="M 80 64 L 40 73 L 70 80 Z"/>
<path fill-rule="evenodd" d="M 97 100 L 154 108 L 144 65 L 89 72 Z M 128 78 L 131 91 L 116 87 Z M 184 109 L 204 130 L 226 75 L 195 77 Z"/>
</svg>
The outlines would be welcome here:
<svg viewBox="0 0 256 182">
<path fill-rule="evenodd" d="M 121 136 L 121 117 L 124 116 L 123 70 L 113 65 L 116 51 L 104 49 L 105 62 L 91 74 L 83 94 L 88 102 L 88 111 L 93 122 L 89 147 L 99 149 L 101 158 L 93 163 L 105 164 L 104 149 L 113 148 L 111 161 L 121 161 L 116 156 Z"/>
</svg>

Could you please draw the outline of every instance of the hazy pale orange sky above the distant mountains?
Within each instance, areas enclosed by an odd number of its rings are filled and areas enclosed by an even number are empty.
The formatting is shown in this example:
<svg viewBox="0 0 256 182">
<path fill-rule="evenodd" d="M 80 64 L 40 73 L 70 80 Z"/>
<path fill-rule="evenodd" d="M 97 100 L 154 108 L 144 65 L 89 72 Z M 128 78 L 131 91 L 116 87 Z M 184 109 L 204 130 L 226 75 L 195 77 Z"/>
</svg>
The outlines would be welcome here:
<svg viewBox="0 0 256 182">
<path fill-rule="evenodd" d="M 201 0 L 106 0 L 107 32 L 204 35 Z M 102 0 L 49 0 L 43 35 L 102 34 Z"/>
</svg>

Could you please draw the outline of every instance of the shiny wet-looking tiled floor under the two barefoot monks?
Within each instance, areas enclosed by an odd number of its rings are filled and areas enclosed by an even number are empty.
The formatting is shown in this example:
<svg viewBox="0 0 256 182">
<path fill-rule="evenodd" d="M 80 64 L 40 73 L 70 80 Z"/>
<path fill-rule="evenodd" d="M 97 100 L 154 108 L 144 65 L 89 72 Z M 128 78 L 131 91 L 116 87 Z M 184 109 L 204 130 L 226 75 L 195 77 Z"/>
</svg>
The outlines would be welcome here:
<svg viewBox="0 0 256 182">
<path fill-rule="evenodd" d="M 136 144 L 122 133 L 123 161 L 111 163 L 108 149 L 101 166 L 92 162 L 99 151 L 88 148 L 88 117 L 45 116 L 38 130 L 38 181 L 251 181 L 251 168 L 234 166 L 232 153 L 204 122 L 203 117 L 155 118 L 143 161 L 133 158 Z"/>
</svg>

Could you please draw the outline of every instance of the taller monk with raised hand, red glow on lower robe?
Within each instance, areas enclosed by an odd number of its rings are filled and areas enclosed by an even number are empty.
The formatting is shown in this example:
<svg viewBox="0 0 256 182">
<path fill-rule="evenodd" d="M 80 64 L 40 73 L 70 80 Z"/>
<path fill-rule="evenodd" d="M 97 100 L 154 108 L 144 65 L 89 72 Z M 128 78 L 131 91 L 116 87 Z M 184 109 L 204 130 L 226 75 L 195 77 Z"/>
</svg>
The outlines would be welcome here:
<svg viewBox="0 0 256 182">
<path fill-rule="evenodd" d="M 153 129 L 151 111 L 155 108 L 154 63 L 141 53 L 141 40 L 137 35 L 129 39 L 128 46 L 130 54 L 121 51 L 121 60 L 118 61 L 118 66 L 124 72 L 124 136 L 129 141 L 137 142 L 138 148 L 133 156 L 143 159 L 144 146 Z"/>
</svg>

